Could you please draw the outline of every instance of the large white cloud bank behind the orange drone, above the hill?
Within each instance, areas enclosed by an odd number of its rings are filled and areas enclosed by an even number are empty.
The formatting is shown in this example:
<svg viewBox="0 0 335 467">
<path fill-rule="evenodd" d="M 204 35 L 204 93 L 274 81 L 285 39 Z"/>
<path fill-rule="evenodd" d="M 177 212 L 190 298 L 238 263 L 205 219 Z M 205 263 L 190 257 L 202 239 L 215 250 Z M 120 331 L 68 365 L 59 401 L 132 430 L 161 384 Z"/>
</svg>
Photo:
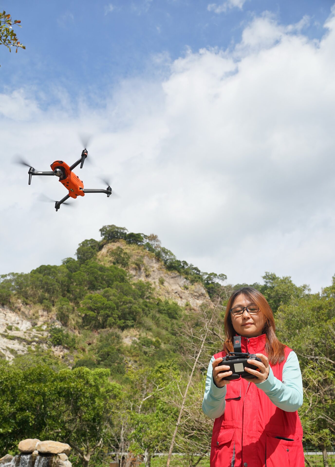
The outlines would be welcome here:
<svg viewBox="0 0 335 467">
<path fill-rule="evenodd" d="M 180 259 L 232 283 L 260 281 L 268 270 L 313 290 L 328 285 L 335 17 L 320 41 L 300 26 L 264 14 L 234 50 L 160 56 L 153 66 L 168 68 L 164 79 L 125 80 L 101 108 L 44 110 L 31 90 L 1 95 L 0 273 L 59 264 L 80 241 L 99 238 L 102 225 L 116 224 L 157 233 Z M 86 195 L 77 209 L 56 213 L 36 194 L 60 199 L 64 188 L 51 177 L 28 186 L 28 169 L 8 155 L 21 153 L 38 170 L 57 157 L 71 163 L 81 153 L 79 131 L 95 135 L 95 166 L 77 169 L 84 185 L 112 175 L 121 198 Z"/>
</svg>

